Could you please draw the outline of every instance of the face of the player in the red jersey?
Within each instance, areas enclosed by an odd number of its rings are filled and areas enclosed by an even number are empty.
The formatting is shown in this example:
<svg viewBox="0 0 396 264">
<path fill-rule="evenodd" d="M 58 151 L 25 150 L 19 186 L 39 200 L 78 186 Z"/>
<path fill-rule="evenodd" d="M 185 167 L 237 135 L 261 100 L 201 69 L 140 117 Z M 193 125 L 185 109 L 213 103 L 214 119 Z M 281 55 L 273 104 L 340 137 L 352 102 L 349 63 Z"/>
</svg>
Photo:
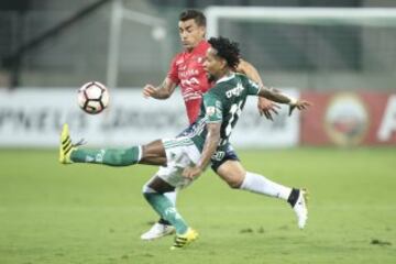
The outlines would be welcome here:
<svg viewBox="0 0 396 264">
<path fill-rule="evenodd" d="M 183 47 L 187 51 L 191 51 L 205 38 L 206 28 L 197 25 L 194 19 L 179 21 L 178 28 Z"/>
</svg>

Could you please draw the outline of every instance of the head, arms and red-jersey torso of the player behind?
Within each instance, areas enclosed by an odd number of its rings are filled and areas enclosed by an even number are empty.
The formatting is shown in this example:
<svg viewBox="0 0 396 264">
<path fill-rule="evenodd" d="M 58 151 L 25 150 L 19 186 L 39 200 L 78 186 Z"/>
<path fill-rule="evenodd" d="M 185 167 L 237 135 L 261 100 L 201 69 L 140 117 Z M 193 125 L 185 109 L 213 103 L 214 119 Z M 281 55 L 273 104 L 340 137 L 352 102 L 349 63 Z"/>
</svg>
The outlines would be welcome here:
<svg viewBox="0 0 396 264">
<path fill-rule="evenodd" d="M 197 10 L 187 10 L 180 14 L 179 19 L 179 34 L 184 52 L 176 54 L 172 59 L 170 69 L 164 81 L 158 87 L 146 85 L 143 88 L 143 95 L 155 99 L 167 99 L 179 86 L 188 120 L 193 123 L 199 114 L 202 94 L 211 88 L 202 66 L 210 45 L 205 40 L 206 18 L 204 13 Z M 241 59 L 235 70 L 263 85 L 257 70 L 248 62 Z M 261 114 L 272 119 L 271 111 L 277 113 L 275 108 L 278 106 L 261 98 L 257 107 Z"/>
</svg>

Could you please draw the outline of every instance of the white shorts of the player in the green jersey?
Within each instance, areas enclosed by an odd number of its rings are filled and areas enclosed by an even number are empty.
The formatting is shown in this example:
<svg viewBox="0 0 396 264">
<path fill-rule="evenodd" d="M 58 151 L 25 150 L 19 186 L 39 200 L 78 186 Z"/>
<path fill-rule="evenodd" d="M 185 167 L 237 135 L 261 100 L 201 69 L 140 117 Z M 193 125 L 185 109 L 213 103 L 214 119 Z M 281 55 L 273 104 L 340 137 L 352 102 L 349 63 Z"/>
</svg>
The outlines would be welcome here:
<svg viewBox="0 0 396 264">
<path fill-rule="evenodd" d="M 200 152 L 189 138 L 165 139 L 162 142 L 166 152 L 167 166 L 161 166 L 156 176 L 175 188 L 187 187 L 191 180 L 183 177 L 183 170 L 187 166 L 197 164 Z"/>
</svg>

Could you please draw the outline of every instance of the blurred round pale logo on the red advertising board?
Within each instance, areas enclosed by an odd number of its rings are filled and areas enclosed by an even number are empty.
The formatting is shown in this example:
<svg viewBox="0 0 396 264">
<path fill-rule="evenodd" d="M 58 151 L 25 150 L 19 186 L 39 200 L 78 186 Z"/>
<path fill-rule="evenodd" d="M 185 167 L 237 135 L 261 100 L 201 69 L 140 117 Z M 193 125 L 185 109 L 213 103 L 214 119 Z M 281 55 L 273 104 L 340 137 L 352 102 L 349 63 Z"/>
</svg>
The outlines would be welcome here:
<svg viewBox="0 0 396 264">
<path fill-rule="evenodd" d="M 369 128 L 367 109 L 355 94 L 337 94 L 324 116 L 324 130 L 338 145 L 358 145 Z"/>
</svg>

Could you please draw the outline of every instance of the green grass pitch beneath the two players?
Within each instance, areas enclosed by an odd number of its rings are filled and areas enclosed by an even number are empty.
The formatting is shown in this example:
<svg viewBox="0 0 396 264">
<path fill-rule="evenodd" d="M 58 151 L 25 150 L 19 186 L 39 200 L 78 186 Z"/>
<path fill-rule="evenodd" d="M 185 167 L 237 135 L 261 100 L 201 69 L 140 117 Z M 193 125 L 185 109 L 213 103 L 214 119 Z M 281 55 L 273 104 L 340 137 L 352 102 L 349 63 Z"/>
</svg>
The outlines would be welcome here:
<svg viewBox="0 0 396 264">
<path fill-rule="evenodd" d="M 310 191 L 306 230 L 286 202 L 207 172 L 178 208 L 200 239 L 144 242 L 155 167 L 63 166 L 56 151 L 0 151 L 0 263 L 396 263 L 396 150 L 240 151 L 249 170 Z"/>
</svg>

